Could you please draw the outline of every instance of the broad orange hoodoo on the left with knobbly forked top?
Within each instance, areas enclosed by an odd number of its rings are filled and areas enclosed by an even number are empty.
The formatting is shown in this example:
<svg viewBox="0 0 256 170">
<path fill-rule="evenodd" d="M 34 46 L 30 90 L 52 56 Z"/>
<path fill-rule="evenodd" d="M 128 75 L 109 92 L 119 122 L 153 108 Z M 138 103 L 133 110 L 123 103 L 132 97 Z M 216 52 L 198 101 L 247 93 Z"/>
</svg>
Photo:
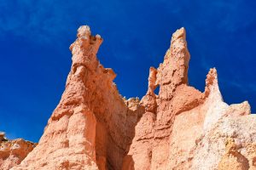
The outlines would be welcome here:
<svg viewBox="0 0 256 170">
<path fill-rule="evenodd" d="M 70 46 L 73 64 L 38 146 L 14 169 L 120 169 L 143 115 L 138 99 L 123 99 L 96 53 L 102 37 L 81 26 Z"/>
</svg>

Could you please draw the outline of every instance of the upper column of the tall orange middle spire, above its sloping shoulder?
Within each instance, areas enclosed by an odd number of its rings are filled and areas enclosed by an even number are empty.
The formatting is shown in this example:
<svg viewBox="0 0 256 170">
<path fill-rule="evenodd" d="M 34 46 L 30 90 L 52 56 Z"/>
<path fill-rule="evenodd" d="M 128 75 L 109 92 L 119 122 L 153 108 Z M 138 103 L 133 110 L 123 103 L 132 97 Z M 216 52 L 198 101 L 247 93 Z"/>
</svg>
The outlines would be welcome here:
<svg viewBox="0 0 256 170">
<path fill-rule="evenodd" d="M 188 83 L 189 59 L 186 31 L 181 28 L 172 34 L 171 47 L 158 68 L 157 83 L 160 85 L 161 99 L 172 99 L 175 88 Z"/>
</svg>

